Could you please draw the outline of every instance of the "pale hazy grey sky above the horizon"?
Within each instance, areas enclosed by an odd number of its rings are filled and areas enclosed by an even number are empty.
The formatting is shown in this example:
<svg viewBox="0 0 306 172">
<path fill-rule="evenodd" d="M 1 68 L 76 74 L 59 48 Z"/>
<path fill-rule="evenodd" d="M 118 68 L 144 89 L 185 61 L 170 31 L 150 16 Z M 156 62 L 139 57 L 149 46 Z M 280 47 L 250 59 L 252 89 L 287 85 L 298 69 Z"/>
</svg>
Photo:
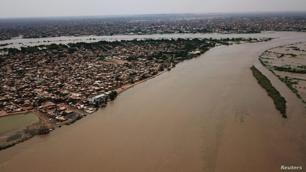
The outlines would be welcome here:
<svg viewBox="0 0 306 172">
<path fill-rule="evenodd" d="M 0 17 L 304 11 L 306 0 L 0 0 Z"/>
</svg>

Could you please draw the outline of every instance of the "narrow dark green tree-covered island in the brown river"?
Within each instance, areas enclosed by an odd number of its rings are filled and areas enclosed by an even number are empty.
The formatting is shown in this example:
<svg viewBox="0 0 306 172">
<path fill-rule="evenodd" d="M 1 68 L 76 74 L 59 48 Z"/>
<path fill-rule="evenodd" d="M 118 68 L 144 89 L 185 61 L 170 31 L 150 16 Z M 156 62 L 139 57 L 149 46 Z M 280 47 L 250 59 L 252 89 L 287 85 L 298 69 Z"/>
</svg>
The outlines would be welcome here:
<svg viewBox="0 0 306 172">
<path fill-rule="evenodd" d="M 271 84 L 270 80 L 264 76 L 255 66 L 250 68 L 253 72 L 253 76 L 258 80 L 258 84 L 261 85 L 268 95 L 273 99 L 275 108 L 279 110 L 283 118 L 287 118 L 286 115 L 286 100 L 280 95 L 276 88 Z"/>
</svg>

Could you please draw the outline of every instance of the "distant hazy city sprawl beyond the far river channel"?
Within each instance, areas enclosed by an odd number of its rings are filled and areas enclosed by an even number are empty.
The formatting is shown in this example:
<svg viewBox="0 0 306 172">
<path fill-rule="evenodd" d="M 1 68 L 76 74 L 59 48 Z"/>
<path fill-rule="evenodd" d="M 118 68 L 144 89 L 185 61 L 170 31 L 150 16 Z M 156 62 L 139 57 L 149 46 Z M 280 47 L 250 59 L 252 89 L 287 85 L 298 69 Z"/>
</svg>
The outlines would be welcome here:
<svg viewBox="0 0 306 172">
<path fill-rule="evenodd" d="M 203 32 L 305 30 L 305 12 L 164 14 L 126 17 L 1 19 L 0 40 L 24 38 Z"/>
</svg>

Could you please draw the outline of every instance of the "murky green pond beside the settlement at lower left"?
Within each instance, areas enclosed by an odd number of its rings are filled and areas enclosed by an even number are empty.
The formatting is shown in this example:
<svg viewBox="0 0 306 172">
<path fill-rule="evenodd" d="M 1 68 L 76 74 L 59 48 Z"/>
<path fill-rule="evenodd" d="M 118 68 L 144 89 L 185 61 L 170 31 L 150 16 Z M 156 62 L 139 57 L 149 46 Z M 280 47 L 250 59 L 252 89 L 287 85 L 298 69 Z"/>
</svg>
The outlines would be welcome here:
<svg viewBox="0 0 306 172">
<path fill-rule="evenodd" d="M 0 118 L 0 135 L 10 131 L 22 129 L 39 120 L 35 113 L 16 114 Z"/>
</svg>

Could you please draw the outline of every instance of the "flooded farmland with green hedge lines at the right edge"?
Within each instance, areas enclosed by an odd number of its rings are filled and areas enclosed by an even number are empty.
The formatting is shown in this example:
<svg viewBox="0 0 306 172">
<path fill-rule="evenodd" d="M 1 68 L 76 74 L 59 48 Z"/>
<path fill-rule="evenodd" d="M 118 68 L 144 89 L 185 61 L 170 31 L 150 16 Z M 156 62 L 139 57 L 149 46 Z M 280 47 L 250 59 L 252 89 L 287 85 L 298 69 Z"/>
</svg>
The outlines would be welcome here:
<svg viewBox="0 0 306 172">
<path fill-rule="evenodd" d="M 306 104 L 305 51 L 305 42 L 279 46 L 266 50 L 259 61 Z"/>
</svg>

